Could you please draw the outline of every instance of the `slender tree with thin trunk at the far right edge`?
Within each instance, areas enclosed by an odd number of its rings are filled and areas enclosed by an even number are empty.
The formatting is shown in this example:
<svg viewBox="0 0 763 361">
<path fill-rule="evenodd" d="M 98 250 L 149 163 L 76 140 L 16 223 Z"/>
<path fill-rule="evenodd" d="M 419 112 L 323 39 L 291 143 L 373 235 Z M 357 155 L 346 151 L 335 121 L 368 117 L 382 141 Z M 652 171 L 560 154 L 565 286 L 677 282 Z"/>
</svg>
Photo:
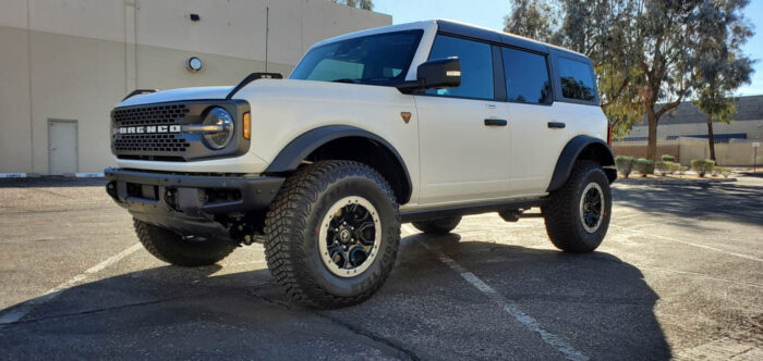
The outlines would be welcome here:
<svg viewBox="0 0 763 361">
<path fill-rule="evenodd" d="M 694 53 L 692 85 L 697 89 L 693 103 L 707 115 L 710 159 L 715 160 L 713 120 L 730 123 L 736 113 L 732 92 L 750 83 L 752 61 L 741 46 L 752 36 L 742 9 L 748 0 L 706 0 L 697 15 L 698 46 Z"/>
</svg>

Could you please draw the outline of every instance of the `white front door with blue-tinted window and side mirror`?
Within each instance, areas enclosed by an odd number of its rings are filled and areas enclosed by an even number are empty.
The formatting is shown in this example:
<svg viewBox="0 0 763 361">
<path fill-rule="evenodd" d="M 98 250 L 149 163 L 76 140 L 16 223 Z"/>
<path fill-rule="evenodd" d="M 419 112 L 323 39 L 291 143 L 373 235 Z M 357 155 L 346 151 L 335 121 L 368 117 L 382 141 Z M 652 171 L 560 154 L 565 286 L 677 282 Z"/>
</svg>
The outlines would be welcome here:
<svg viewBox="0 0 763 361">
<path fill-rule="evenodd" d="M 415 97 L 419 113 L 421 204 L 506 197 L 509 127 L 495 101 L 488 43 L 438 35 L 429 60 L 458 57 L 461 86 Z"/>
</svg>

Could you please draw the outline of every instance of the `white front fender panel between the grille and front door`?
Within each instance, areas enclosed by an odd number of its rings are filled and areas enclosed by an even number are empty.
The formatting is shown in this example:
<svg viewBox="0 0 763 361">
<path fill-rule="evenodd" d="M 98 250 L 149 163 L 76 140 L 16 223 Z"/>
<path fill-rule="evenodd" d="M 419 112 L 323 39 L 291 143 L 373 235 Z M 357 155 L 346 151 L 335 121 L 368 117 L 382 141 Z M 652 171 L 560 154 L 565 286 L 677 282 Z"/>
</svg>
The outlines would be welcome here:
<svg viewBox="0 0 763 361">
<path fill-rule="evenodd" d="M 250 153 L 266 164 L 312 129 L 353 126 L 385 139 L 400 154 L 413 186 L 411 202 L 417 201 L 419 115 L 412 96 L 382 86 L 261 79 L 239 91 L 237 98 L 247 99 L 252 111 Z M 402 112 L 411 113 L 408 123 Z M 266 167 L 251 172 L 262 173 Z"/>
</svg>

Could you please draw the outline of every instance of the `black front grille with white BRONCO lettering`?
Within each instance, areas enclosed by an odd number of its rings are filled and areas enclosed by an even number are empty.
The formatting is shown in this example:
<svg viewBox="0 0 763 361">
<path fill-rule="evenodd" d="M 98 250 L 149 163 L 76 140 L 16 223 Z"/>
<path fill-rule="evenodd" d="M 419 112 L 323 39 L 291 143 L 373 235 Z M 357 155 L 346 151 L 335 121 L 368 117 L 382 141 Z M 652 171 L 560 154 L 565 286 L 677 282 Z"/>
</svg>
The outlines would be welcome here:
<svg viewBox="0 0 763 361">
<path fill-rule="evenodd" d="M 226 109 L 235 120 L 235 134 L 222 149 L 207 147 L 201 134 L 182 132 L 187 124 L 202 124 L 209 110 Z M 249 150 L 243 138 L 243 100 L 193 100 L 118 107 L 111 111 L 111 152 L 118 159 L 189 162 L 237 157 Z"/>
</svg>

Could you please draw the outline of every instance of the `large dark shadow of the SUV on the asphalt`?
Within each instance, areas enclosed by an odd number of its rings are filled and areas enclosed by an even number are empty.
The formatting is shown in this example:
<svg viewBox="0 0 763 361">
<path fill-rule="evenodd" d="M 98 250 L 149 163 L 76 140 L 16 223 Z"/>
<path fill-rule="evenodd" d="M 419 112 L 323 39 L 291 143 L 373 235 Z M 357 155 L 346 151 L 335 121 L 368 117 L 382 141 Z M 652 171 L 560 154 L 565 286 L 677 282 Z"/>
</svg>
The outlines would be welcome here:
<svg viewBox="0 0 763 361">
<path fill-rule="evenodd" d="M 0 358 L 564 358 L 433 249 L 585 357 L 670 357 L 657 296 L 634 266 L 450 234 L 405 237 L 380 291 L 340 310 L 289 303 L 262 264 L 228 274 L 160 266 L 83 284 L 0 329 Z"/>
</svg>

